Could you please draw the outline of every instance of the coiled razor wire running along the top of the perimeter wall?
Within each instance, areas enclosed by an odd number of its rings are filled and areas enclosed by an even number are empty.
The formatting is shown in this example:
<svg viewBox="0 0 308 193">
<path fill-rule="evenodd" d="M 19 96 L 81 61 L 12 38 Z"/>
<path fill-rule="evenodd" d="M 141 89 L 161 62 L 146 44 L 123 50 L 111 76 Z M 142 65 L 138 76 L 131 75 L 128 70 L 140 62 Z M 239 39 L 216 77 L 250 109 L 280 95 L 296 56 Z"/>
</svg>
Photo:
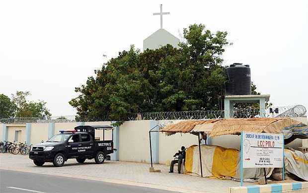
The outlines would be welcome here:
<svg viewBox="0 0 308 193">
<path fill-rule="evenodd" d="M 302 105 L 279 107 L 282 112 L 279 115 L 270 114 L 268 111 L 260 115 L 258 108 L 250 109 L 233 109 L 231 112 L 224 110 L 217 111 L 180 111 L 180 112 L 145 112 L 135 113 L 127 116 L 125 120 L 201 120 L 201 119 L 223 119 L 225 113 L 231 115 L 232 118 L 253 118 L 253 117 L 299 117 L 304 116 L 307 112 Z M 68 123 L 68 122 L 99 122 L 99 121 L 115 121 L 110 116 L 105 115 L 97 119 L 82 119 L 78 116 L 57 116 L 57 117 L 19 117 L 0 119 L 2 124 L 24 124 L 24 123 Z"/>
</svg>

